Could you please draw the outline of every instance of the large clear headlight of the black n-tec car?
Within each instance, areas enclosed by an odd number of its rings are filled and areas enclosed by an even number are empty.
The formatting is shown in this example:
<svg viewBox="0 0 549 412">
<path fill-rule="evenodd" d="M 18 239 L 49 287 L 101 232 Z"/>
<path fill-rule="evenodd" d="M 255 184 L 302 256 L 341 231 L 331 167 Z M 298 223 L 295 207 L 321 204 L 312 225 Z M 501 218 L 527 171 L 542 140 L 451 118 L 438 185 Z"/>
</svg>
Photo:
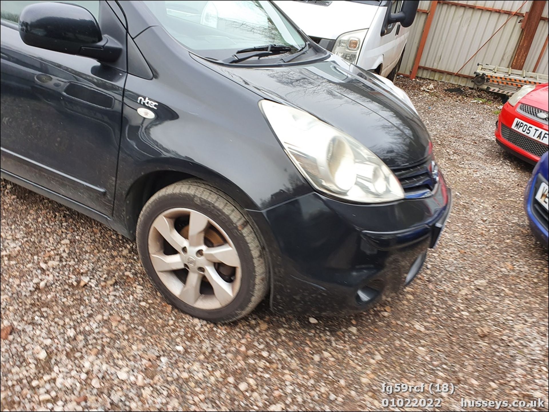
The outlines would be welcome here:
<svg viewBox="0 0 549 412">
<path fill-rule="evenodd" d="M 270 100 L 259 106 L 290 160 L 313 188 L 340 199 L 404 199 L 399 180 L 370 150 L 309 113 Z"/>
</svg>

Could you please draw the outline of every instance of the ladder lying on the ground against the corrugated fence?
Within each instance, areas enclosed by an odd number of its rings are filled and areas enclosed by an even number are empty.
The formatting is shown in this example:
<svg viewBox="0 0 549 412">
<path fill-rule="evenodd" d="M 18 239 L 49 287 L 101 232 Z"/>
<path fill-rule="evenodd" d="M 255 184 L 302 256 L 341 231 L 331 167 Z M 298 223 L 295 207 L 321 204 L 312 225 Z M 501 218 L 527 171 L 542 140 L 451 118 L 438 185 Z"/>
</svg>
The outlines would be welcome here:
<svg viewBox="0 0 549 412">
<path fill-rule="evenodd" d="M 549 82 L 549 76 L 526 70 L 515 70 L 511 67 L 477 64 L 475 86 L 486 91 L 512 95 L 525 84 L 542 84 Z"/>
</svg>

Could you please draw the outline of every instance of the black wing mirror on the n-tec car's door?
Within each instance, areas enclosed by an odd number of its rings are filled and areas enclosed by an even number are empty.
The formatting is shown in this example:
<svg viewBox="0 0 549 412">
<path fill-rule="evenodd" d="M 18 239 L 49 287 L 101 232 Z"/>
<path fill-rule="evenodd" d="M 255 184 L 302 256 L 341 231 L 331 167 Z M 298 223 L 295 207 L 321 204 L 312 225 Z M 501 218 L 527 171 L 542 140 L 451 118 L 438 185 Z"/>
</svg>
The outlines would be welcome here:
<svg viewBox="0 0 549 412">
<path fill-rule="evenodd" d="M 19 36 L 29 46 L 99 61 L 116 61 L 122 53 L 120 43 L 102 36 L 94 16 L 76 4 L 27 5 L 19 15 Z"/>
</svg>

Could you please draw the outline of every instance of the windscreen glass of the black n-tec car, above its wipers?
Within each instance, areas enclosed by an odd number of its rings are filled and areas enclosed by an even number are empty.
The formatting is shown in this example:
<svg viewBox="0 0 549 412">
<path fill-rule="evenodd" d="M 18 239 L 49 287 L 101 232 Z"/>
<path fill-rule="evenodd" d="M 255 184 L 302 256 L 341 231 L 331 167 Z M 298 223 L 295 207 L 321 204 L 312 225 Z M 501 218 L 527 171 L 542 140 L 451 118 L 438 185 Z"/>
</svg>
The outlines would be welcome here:
<svg viewBox="0 0 549 412">
<path fill-rule="evenodd" d="M 268 1 L 143 3 L 171 36 L 203 57 L 226 60 L 240 50 L 266 45 L 284 46 L 285 54 L 305 47 L 305 39 Z M 277 53 L 278 58 L 281 53 Z M 261 59 L 272 60 L 269 57 Z"/>
</svg>

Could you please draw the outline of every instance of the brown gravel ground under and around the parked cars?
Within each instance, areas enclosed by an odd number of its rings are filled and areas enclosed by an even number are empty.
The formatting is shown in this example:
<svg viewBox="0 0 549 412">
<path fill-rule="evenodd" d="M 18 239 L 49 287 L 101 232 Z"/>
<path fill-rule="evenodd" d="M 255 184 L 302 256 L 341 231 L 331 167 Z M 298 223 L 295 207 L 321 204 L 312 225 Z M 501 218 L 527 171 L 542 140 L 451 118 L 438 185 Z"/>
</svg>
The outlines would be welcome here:
<svg viewBox="0 0 549 412">
<path fill-rule="evenodd" d="M 455 203 L 405 293 L 352 317 L 274 315 L 264 302 L 246 319 L 214 325 L 172 311 L 133 242 L 2 180 L 1 409 L 547 403 L 547 252 L 523 211 L 531 166 L 494 142 L 501 101 L 446 92 L 447 83 L 399 77 L 397 84 L 432 133 Z M 383 383 L 431 382 L 454 392 L 382 392 Z"/>
</svg>

